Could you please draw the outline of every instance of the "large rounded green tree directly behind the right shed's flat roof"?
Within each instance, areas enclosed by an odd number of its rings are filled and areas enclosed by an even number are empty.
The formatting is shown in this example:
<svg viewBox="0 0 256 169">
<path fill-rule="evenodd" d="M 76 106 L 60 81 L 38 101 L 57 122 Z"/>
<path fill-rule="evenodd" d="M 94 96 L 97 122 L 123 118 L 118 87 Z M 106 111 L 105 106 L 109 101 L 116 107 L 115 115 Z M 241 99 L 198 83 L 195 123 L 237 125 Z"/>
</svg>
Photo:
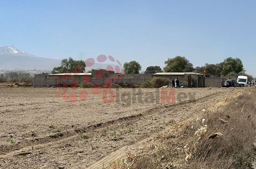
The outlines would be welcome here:
<svg viewBox="0 0 256 169">
<path fill-rule="evenodd" d="M 193 64 L 189 62 L 184 56 L 176 56 L 175 58 L 168 58 L 164 62 L 164 72 L 193 72 Z"/>
</svg>

